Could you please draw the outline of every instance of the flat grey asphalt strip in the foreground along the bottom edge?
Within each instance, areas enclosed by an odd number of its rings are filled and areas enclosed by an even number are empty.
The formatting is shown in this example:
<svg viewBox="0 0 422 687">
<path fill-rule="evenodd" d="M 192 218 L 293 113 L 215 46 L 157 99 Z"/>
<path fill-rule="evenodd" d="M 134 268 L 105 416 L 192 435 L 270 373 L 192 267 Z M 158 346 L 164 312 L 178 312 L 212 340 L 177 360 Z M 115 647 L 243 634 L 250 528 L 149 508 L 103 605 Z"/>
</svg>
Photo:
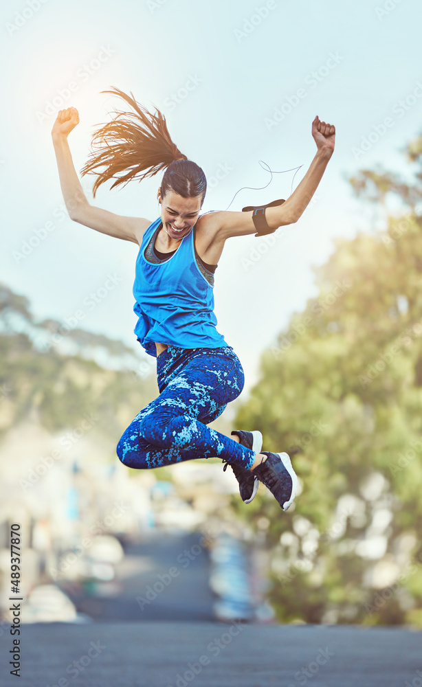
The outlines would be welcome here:
<svg viewBox="0 0 422 687">
<path fill-rule="evenodd" d="M 128 622 L 25 625 L 21 677 L 2 687 L 418 687 L 422 632 L 396 628 Z M 407 682 L 406 682 L 407 681 Z"/>
</svg>

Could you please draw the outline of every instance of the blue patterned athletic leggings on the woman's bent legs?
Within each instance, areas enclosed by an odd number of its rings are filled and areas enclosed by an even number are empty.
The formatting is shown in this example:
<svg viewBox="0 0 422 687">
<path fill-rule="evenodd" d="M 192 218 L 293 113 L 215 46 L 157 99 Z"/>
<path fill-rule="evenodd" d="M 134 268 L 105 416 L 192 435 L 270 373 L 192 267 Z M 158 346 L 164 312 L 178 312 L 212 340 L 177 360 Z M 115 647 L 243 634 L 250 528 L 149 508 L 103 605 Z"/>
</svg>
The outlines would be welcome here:
<svg viewBox="0 0 422 687">
<path fill-rule="evenodd" d="M 243 389 L 243 368 L 231 346 L 177 348 L 157 357 L 159 396 L 124 431 L 118 457 L 131 468 L 157 468 L 216 456 L 245 468 L 256 453 L 207 427 Z"/>
</svg>

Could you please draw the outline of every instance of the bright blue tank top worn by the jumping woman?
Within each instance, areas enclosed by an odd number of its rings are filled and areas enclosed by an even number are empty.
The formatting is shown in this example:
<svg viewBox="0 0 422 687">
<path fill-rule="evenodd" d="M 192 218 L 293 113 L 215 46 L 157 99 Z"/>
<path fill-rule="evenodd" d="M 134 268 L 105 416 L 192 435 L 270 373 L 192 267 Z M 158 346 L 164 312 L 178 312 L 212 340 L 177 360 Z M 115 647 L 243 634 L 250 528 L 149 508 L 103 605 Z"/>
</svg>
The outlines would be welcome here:
<svg viewBox="0 0 422 687">
<path fill-rule="evenodd" d="M 146 260 L 145 249 L 161 223 L 159 217 L 146 229 L 136 259 L 133 311 L 138 316 L 134 329 L 138 341 L 155 357 L 155 341 L 180 348 L 227 346 L 216 330 L 212 286 L 195 259 L 193 228 L 166 262 Z"/>
</svg>

